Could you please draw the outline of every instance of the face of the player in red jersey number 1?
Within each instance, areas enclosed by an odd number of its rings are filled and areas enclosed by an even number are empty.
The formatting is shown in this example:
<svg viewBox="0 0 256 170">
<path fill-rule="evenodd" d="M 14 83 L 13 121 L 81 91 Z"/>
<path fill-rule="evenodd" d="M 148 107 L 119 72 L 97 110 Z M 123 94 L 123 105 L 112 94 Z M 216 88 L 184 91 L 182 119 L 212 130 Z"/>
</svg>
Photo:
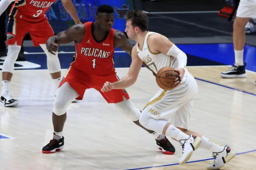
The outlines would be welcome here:
<svg viewBox="0 0 256 170">
<path fill-rule="evenodd" d="M 98 17 L 96 17 L 96 20 L 97 22 L 99 22 L 99 25 L 102 30 L 109 32 L 112 26 L 114 25 L 114 13 L 99 13 Z"/>
</svg>

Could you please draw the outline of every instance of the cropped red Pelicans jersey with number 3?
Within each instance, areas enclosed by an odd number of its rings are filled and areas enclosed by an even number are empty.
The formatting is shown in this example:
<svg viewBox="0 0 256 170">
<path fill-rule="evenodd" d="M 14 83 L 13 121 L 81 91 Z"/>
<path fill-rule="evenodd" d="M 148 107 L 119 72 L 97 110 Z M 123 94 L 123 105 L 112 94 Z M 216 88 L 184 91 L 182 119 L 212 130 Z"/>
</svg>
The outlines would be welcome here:
<svg viewBox="0 0 256 170">
<path fill-rule="evenodd" d="M 17 12 L 22 17 L 38 19 L 44 17 L 45 12 L 56 0 L 16 0 L 12 5 L 10 15 L 14 18 Z M 20 15 L 18 15 L 20 17 Z"/>
</svg>

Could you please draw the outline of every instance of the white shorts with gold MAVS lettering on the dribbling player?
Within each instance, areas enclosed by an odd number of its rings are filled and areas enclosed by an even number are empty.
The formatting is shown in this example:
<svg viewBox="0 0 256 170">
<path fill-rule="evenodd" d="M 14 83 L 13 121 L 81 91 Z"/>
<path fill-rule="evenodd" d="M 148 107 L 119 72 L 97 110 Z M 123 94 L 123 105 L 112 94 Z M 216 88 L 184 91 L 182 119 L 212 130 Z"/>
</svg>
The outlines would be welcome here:
<svg viewBox="0 0 256 170">
<path fill-rule="evenodd" d="M 159 90 L 145 106 L 145 110 L 154 119 L 162 119 L 173 126 L 187 129 L 197 90 L 196 80 L 186 70 L 178 87 Z"/>
</svg>

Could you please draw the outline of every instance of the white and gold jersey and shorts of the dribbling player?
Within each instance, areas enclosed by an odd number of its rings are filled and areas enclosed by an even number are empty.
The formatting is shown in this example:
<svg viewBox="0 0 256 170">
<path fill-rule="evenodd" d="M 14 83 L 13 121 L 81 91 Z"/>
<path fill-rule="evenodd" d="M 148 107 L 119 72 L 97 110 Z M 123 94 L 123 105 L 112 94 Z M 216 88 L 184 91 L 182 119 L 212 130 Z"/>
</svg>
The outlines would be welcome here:
<svg viewBox="0 0 256 170">
<path fill-rule="evenodd" d="M 153 53 L 147 44 L 147 38 L 155 32 L 147 32 L 142 47 L 138 47 L 137 54 L 155 73 L 163 67 L 175 69 L 178 65 L 176 57 L 158 52 Z M 194 77 L 185 68 L 185 74 L 181 84 L 172 90 L 160 89 L 150 99 L 144 109 L 154 119 L 165 119 L 174 126 L 187 129 L 187 121 L 190 118 L 192 104 L 197 93 L 197 84 Z"/>
</svg>

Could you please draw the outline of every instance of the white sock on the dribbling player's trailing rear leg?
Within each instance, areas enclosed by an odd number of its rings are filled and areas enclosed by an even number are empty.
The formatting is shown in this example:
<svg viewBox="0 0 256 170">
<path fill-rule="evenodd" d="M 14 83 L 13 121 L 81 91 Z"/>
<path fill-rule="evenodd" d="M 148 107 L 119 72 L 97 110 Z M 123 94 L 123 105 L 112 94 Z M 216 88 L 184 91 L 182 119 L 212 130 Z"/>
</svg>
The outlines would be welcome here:
<svg viewBox="0 0 256 170">
<path fill-rule="evenodd" d="M 200 148 L 210 150 L 211 152 L 221 152 L 224 149 L 223 146 L 212 142 L 211 140 L 207 139 L 204 136 L 202 136 L 201 139 L 201 144 L 199 146 Z"/>
</svg>

